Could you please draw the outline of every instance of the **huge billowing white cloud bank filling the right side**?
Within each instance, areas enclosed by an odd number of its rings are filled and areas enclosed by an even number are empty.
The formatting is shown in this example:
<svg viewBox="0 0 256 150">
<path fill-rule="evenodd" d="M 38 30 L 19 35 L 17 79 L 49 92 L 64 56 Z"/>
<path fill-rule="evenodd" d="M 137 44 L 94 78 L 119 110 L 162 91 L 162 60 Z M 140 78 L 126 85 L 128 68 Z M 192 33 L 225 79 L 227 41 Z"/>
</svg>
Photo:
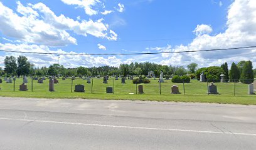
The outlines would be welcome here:
<svg viewBox="0 0 256 150">
<path fill-rule="evenodd" d="M 198 25 L 194 32 L 196 37 L 188 46 L 176 46 L 172 49 L 156 47 L 159 51 L 196 51 L 203 49 L 220 49 L 230 47 L 255 46 L 256 41 L 256 1 L 235 0 L 228 10 L 227 29 L 215 36 L 210 36 L 212 29 L 205 24 Z M 233 61 L 253 61 L 256 66 L 256 49 L 237 49 L 232 51 L 212 51 L 201 53 L 166 54 L 162 64 L 186 66 L 191 62 L 203 66 L 220 66 Z"/>
</svg>

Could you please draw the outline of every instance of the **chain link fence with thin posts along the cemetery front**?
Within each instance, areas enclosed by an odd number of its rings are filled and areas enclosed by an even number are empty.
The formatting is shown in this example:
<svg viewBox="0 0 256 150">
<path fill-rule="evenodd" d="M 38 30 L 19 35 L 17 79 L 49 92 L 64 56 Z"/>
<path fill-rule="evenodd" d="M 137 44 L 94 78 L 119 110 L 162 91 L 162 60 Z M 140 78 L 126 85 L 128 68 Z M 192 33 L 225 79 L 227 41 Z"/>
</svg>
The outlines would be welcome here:
<svg viewBox="0 0 256 150">
<path fill-rule="evenodd" d="M 135 78 L 134 78 L 135 79 Z M 17 78 L 16 80 L 11 79 L 12 82 L 3 80 L 1 83 L 1 92 L 35 92 L 44 93 L 49 90 L 49 78 L 43 80 L 43 83 L 39 83 L 38 80 L 33 78 L 28 78 L 28 83 L 26 83 L 26 91 L 20 91 L 20 86 L 23 84 L 22 78 Z M 165 79 L 164 83 L 159 83 L 158 79 L 147 79 L 149 83 L 134 82 L 131 79 L 125 79 L 125 83 L 122 83 L 121 78 L 109 78 L 107 83 L 104 83 L 103 78 L 91 78 L 90 83 L 87 83 L 87 79 L 72 78 L 57 79 L 58 83 L 54 84 L 54 89 L 56 93 L 75 93 L 75 86 L 82 84 L 85 87 L 85 93 L 92 94 L 105 94 L 106 88 L 111 87 L 113 89 L 113 94 L 139 94 L 139 85 L 143 86 L 144 94 L 161 94 L 170 95 L 172 87 L 175 85 L 178 87 L 179 94 L 183 95 L 206 95 L 213 94 L 212 88 L 210 86 L 216 86 L 216 93 L 227 96 L 245 96 L 250 93 L 250 84 L 244 84 L 241 82 L 225 82 L 225 83 L 214 83 L 211 85 L 208 80 L 205 82 L 200 82 L 196 79 L 191 79 L 189 83 L 184 82 L 183 79 L 178 81 L 178 83 L 173 83 L 171 79 Z M 232 81 L 232 80 L 230 80 Z M 245 81 L 245 80 L 243 80 Z M 253 83 L 254 80 L 247 80 L 246 83 Z M 256 81 L 254 82 L 256 84 Z M 252 86 L 253 87 L 253 86 Z M 254 85 L 254 90 L 256 90 L 256 85 Z M 256 91 L 255 91 L 256 93 Z"/>
</svg>

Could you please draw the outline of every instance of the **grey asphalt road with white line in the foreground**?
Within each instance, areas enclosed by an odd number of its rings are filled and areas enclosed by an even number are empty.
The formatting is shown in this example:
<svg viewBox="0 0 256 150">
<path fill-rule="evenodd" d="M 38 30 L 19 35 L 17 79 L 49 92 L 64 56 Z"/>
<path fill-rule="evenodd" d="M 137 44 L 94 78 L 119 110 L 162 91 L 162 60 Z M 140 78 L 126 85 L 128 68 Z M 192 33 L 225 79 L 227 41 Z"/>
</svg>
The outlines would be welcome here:
<svg viewBox="0 0 256 150">
<path fill-rule="evenodd" d="M 256 106 L 0 98 L 0 149 L 255 150 Z"/>
</svg>

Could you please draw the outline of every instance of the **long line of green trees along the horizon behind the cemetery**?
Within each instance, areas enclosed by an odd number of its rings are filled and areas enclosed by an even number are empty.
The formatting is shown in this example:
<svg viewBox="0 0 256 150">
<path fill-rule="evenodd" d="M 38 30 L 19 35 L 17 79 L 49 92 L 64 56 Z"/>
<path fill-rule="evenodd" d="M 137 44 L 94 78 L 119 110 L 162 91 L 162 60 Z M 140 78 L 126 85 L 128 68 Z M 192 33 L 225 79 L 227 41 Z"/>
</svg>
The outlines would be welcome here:
<svg viewBox="0 0 256 150">
<path fill-rule="evenodd" d="M 163 71 L 165 76 L 178 75 L 183 76 L 188 74 L 190 78 L 200 79 L 202 71 L 206 73 L 206 79 L 220 79 L 220 74 L 225 74 L 226 79 L 253 79 L 256 75 L 256 69 L 252 69 L 251 61 L 240 61 L 232 63 L 230 70 L 228 64 L 224 63 L 221 66 L 211 66 L 209 68 L 198 68 L 198 64 L 191 63 L 186 68 L 184 66 L 167 66 L 155 63 L 131 63 L 120 64 L 119 68 L 111 66 L 101 66 L 85 68 L 65 68 L 60 64 L 52 64 L 48 68 L 36 68 L 34 64 L 29 63 L 25 56 L 6 56 L 4 59 L 4 70 L 0 69 L 4 76 L 113 76 L 113 75 L 144 75 L 149 71 L 153 71 L 156 76 Z"/>
</svg>

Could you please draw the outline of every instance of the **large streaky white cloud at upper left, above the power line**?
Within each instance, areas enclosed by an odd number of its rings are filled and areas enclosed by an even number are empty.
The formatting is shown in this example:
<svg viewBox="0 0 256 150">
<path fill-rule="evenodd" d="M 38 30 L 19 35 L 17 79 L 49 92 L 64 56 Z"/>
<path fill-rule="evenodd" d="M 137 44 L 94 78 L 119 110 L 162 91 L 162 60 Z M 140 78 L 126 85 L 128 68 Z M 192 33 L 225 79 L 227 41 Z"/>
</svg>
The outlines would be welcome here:
<svg viewBox="0 0 256 150">
<path fill-rule="evenodd" d="M 0 31 L 6 36 L 46 46 L 77 44 L 77 40 L 67 31 L 73 31 L 82 36 L 90 34 L 109 40 L 117 39 L 117 34 L 113 34 L 109 25 L 103 23 L 104 19 L 74 21 L 63 14 L 56 16 L 41 2 L 34 5 L 28 4 L 28 6 L 23 6 L 19 1 L 17 4 L 16 11 L 22 16 L 0 2 Z"/>
</svg>

